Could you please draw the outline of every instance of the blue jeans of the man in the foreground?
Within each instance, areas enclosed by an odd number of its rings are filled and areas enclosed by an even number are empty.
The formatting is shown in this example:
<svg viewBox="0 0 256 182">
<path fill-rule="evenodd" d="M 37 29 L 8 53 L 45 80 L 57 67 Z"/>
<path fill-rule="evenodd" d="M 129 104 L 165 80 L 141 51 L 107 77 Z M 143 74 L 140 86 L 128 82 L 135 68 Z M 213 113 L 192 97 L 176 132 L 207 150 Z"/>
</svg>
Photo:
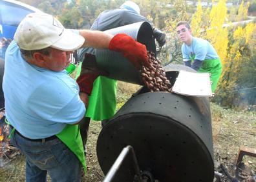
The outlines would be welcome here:
<svg viewBox="0 0 256 182">
<path fill-rule="evenodd" d="M 45 182 L 47 172 L 51 181 L 81 181 L 78 157 L 58 138 L 50 141 L 30 141 L 16 132 L 11 143 L 26 157 L 26 181 Z"/>
</svg>

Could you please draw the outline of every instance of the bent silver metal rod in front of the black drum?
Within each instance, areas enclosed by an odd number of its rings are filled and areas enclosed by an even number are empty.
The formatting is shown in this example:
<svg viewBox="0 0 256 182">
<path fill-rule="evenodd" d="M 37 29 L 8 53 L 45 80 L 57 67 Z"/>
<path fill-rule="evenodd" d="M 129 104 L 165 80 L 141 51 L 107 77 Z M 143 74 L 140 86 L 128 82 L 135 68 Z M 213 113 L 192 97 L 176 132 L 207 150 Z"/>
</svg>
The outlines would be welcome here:
<svg viewBox="0 0 256 182">
<path fill-rule="evenodd" d="M 139 180 L 142 181 L 142 176 L 140 174 L 140 168 L 138 167 L 138 161 L 136 159 L 135 152 L 133 150 L 133 147 L 128 145 L 127 147 L 123 148 L 122 152 L 119 154 L 116 161 L 114 161 L 114 164 L 112 165 L 111 169 L 107 173 L 107 176 L 105 176 L 105 179 L 103 180 L 103 182 L 110 182 L 110 181 L 112 181 L 112 179 L 114 179 L 114 176 L 116 175 L 116 172 L 121 167 L 125 157 L 128 156 L 130 150 L 132 151 L 131 153 L 133 155 L 133 162 L 134 162 L 135 172 L 138 175 Z"/>
</svg>

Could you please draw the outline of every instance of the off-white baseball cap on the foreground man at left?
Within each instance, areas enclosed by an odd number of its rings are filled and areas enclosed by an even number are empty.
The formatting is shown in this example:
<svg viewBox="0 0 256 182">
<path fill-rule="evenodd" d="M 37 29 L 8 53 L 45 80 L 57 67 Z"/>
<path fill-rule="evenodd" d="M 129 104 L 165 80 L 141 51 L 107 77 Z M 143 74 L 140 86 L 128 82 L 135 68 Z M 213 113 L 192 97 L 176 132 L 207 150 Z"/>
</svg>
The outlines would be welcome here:
<svg viewBox="0 0 256 182">
<path fill-rule="evenodd" d="M 45 13 L 28 14 L 17 27 L 14 40 L 23 50 L 40 50 L 50 46 L 72 51 L 85 42 L 81 35 L 65 29 L 58 19 Z"/>
</svg>

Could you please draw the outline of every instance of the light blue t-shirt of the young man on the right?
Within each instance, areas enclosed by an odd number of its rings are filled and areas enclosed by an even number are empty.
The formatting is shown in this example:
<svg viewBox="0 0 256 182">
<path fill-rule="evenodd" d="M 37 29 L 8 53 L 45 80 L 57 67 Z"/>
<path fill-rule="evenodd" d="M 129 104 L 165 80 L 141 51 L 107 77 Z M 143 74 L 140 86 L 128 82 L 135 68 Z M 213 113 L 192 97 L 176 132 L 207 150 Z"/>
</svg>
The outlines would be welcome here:
<svg viewBox="0 0 256 182">
<path fill-rule="evenodd" d="M 183 61 L 194 59 L 204 61 L 205 59 L 209 60 L 219 58 L 215 48 L 213 48 L 208 41 L 196 37 L 192 37 L 192 43 L 190 46 L 183 43 L 182 56 Z"/>
</svg>

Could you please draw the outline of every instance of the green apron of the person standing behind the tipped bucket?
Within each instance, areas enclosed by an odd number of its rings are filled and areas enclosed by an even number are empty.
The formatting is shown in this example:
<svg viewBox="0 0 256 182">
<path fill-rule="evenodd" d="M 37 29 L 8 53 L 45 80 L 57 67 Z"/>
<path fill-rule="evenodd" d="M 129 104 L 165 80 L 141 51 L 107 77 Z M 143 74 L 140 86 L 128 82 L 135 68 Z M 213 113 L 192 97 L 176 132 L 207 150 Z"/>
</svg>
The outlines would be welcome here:
<svg viewBox="0 0 256 182">
<path fill-rule="evenodd" d="M 76 78 L 80 76 L 80 72 L 81 63 L 78 66 Z M 94 121 L 111 119 L 116 112 L 116 86 L 116 80 L 99 76 L 93 83 L 85 116 L 91 117 Z"/>
</svg>

